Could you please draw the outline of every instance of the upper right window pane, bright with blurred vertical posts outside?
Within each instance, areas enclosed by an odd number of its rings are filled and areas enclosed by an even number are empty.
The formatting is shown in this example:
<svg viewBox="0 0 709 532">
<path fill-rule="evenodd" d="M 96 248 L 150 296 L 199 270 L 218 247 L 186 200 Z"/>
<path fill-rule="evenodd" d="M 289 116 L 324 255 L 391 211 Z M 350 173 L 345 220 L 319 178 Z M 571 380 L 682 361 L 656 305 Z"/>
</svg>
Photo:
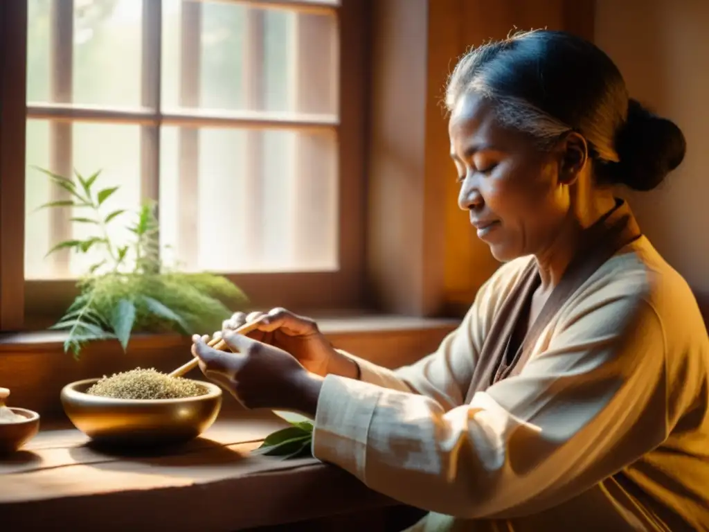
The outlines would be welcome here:
<svg viewBox="0 0 709 532">
<path fill-rule="evenodd" d="M 164 0 L 162 104 L 336 114 L 337 45 L 334 13 Z"/>
</svg>

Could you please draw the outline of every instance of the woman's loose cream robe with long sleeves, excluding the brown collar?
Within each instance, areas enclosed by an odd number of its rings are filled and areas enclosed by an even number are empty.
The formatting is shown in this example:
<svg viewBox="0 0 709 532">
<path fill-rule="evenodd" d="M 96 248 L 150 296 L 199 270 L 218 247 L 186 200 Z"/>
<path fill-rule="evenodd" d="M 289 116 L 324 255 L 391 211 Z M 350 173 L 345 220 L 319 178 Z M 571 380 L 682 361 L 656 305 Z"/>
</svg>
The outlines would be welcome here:
<svg viewBox="0 0 709 532">
<path fill-rule="evenodd" d="M 530 260 L 500 267 L 436 353 L 325 377 L 313 454 L 431 511 L 412 532 L 709 531 L 709 339 L 646 238 L 576 290 L 520 375 L 465 401 Z"/>
</svg>

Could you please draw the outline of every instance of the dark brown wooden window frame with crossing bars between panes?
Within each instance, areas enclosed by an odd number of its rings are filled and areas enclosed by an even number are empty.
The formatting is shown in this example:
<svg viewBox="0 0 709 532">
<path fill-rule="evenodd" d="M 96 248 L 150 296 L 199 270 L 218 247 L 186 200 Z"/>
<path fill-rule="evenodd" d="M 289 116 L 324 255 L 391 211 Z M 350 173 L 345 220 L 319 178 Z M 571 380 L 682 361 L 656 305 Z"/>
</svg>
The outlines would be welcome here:
<svg viewBox="0 0 709 532">
<path fill-rule="evenodd" d="M 331 128 L 337 131 L 338 162 L 338 262 L 332 272 L 225 273 L 250 297 L 254 308 L 287 306 L 295 311 L 330 311 L 363 309 L 367 306 L 365 282 L 365 174 L 367 116 L 367 10 L 368 2 L 341 0 L 339 6 L 318 6 L 317 0 L 220 0 L 250 4 L 255 7 L 284 9 L 328 9 L 337 17 L 339 36 L 339 120 L 314 121 L 303 116 L 302 123 L 292 128 Z M 160 108 L 159 90 L 150 91 L 145 77 L 160 72 L 146 68 L 146 61 L 160 61 L 160 35 L 155 29 L 162 19 L 160 2 L 144 4 L 143 104 Z M 199 4 L 199 2 L 198 2 Z M 157 8 L 156 8 L 157 5 Z M 27 118 L 67 118 L 61 106 L 33 106 L 28 113 L 26 101 L 27 0 L 0 2 L 0 43 L 13 54 L 0 57 L 0 331 L 45 328 L 59 318 L 77 295 L 74 280 L 26 280 L 24 277 L 25 245 L 25 139 Z M 147 22 L 145 19 L 147 18 Z M 150 23 L 152 21 L 152 28 Z M 145 40 L 148 35 L 150 43 Z M 151 44 L 152 43 L 152 44 Z M 156 52 L 157 46 L 157 52 Z M 157 53 L 157 55 L 156 55 Z M 156 59 L 157 57 L 157 59 Z M 70 73 L 69 73 L 70 74 Z M 154 81 L 154 80 L 153 80 Z M 155 87 L 155 84 L 152 84 Z M 159 84 L 158 84 L 159 87 Z M 156 101 L 157 99 L 157 101 Z M 72 106 L 72 120 L 96 120 L 89 108 Z M 160 115 L 160 110 L 156 111 Z M 279 116 L 202 116 L 192 118 L 193 126 L 234 125 L 247 127 L 281 126 Z M 101 113 L 104 121 L 105 113 Z M 135 123 L 129 111 L 113 111 L 111 119 Z M 143 121 L 141 138 L 141 170 L 157 175 L 159 127 L 162 123 L 184 120 L 176 114 L 163 114 L 155 120 Z M 55 122 L 64 126 L 67 122 Z M 139 122 L 140 123 L 140 122 Z M 147 139 L 147 140 L 146 140 Z M 157 143 L 157 144 L 156 144 Z M 147 184 L 146 184 L 147 181 Z M 143 179 L 145 196 L 157 196 L 158 179 Z M 145 188 L 147 187 L 147 188 Z"/>
</svg>

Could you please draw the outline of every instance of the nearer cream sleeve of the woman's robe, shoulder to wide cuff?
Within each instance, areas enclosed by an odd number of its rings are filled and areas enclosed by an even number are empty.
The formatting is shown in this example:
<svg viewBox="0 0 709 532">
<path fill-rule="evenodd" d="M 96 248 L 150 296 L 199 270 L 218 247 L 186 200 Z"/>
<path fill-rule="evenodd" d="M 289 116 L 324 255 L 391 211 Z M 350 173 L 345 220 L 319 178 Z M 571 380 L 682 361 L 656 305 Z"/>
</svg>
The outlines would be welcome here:
<svg viewBox="0 0 709 532">
<path fill-rule="evenodd" d="M 464 519 L 574 497 L 666 438 L 662 323 L 637 294 L 606 294 L 576 305 L 520 375 L 469 404 L 326 377 L 314 455 L 393 499 Z"/>
</svg>

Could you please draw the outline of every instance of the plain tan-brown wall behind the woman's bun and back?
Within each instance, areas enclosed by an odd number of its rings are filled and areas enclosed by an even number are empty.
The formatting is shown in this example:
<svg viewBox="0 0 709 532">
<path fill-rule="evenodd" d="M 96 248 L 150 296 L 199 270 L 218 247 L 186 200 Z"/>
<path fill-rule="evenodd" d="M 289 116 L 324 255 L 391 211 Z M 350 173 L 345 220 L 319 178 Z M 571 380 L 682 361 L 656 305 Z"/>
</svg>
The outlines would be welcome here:
<svg viewBox="0 0 709 532">
<path fill-rule="evenodd" d="M 709 47 L 706 0 L 598 0 L 596 43 L 630 94 L 675 121 L 687 139 L 678 170 L 653 192 L 623 194 L 647 237 L 693 288 L 709 325 Z"/>
</svg>

